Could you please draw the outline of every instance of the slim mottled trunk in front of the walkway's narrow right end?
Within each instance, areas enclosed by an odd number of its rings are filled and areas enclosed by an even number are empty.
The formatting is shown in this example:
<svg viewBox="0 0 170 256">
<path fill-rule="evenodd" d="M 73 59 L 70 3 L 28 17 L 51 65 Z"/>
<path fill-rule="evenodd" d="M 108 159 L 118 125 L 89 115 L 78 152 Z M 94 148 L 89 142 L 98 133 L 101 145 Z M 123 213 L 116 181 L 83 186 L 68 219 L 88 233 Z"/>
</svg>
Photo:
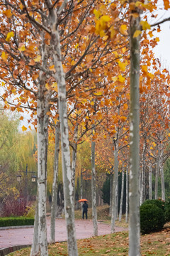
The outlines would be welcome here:
<svg viewBox="0 0 170 256">
<path fill-rule="evenodd" d="M 112 208 L 111 208 L 111 233 L 115 231 L 115 210 L 116 210 L 116 188 L 118 184 L 118 142 L 115 142 L 113 139 L 113 143 L 115 146 L 114 149 L 114 176 L 113 176 L 113 193 L 112 193 Z"/>
</svg>

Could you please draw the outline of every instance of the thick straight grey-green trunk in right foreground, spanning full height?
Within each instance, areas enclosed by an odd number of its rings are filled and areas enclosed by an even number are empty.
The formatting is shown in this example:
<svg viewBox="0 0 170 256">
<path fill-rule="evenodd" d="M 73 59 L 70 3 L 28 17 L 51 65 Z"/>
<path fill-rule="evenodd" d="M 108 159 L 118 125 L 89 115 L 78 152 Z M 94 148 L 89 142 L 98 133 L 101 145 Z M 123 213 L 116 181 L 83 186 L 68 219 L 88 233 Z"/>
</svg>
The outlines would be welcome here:
<svg viewBox="0 0 170 256">
<path fill-rule="evenodd" d="M 130 0 L 130 4 L 135 1 Z M 140 10 L 130 16 L 130 223 L 129 256 L 140 255 Z M 131 12 L 131 11 L 130 11 Z"/>
</svg>

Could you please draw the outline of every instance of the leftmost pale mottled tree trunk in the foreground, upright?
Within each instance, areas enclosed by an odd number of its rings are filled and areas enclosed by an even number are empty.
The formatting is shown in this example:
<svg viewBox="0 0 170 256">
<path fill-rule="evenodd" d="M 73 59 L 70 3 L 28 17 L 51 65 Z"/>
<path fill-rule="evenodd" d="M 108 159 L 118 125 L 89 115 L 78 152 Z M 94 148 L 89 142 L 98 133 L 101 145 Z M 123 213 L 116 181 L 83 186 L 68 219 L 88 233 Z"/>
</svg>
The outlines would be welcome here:
<svg viewBox="0 0 170 256">
<path fill-rule="evenodd" d="M 42 68 L 47 67 L 48 46 L 45 44 L 45 33 L 42 36 Z M 37 137 L 38 137 L 38 242 L 40 245 L 40 255 L 47 256 L 47 224 L 46 224 L 46 200 L 47 200 L 47 144 L 48 144 L 48 123 L 49 116 L 49 101 L 51 92 L 46 90 L 46 76 L 43 71 L 40 71 L 38 84 L 38 102 L 37 102 Z M 36 247 L 37 248 L 37 247 Z M 35 247 L 32 247 L 32 255 Z"/>
</svg>

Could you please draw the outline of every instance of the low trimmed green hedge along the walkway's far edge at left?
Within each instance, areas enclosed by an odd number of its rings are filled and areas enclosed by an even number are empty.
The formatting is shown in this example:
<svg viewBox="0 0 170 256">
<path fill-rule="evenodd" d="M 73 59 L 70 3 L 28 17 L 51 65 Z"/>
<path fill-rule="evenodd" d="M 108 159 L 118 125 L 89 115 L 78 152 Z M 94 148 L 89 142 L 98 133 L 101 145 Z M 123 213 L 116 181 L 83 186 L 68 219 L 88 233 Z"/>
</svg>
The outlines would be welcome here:
<svg viewBox="0 0 170 256">
<path fill-rule="evenodd" d="M 4 217 L 0 218 L 0 227 L 11 227 L 18 225 L 33 225 L 34 218 L 26 218 L 26 217 Z"/>
</svg>

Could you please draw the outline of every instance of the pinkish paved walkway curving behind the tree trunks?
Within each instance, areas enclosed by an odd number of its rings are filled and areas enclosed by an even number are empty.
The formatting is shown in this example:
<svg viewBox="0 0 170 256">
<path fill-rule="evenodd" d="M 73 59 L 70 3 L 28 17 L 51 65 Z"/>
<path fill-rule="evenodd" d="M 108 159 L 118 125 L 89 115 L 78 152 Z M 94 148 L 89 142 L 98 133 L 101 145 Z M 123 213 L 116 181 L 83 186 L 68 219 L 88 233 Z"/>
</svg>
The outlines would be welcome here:
<svg viewBox="0 0 170 256">
<path fill-rule="evenodd" d="M 77 239 L 90 238 L 93 235 L 92 220 L 75 220 Z M 66 223 L 64 219 L 56 218 L 56 242 L 67 240 Z M 127 230 L 115 228 L 115 232 Z M 98 235 L 111 233 L 110 225 L 98 222 Z M 47 218 L 47 238 L 50 238 L 50 218 Z M 16 245 L 31 245 L 33 241 L 33 228 L 12 228 L 0 230 L 0 248 Z"/>
</svg>

